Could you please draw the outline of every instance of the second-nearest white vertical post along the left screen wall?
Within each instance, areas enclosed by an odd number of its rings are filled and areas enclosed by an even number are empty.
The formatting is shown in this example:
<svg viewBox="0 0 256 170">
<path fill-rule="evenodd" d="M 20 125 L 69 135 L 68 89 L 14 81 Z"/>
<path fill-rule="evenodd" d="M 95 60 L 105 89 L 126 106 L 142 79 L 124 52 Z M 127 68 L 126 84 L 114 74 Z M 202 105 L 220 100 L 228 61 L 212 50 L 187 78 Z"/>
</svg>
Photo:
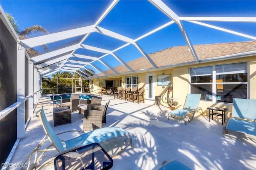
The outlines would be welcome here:
<svg viewBox="0 0 256 170">
<path fill-rule="evenodd" d="M 28 61 L 28 94 L 29 96 L 32 95 L 28 99 L 28 117 L 33 117 L 33 111 L 34 111 L 34 103 L 33 103 L 33 88 L 34 88 L 34 83 L 33 83 L 33 78 L 34 78 L 34 71 L 33 71 L 33 63 Z"/>
</svg>

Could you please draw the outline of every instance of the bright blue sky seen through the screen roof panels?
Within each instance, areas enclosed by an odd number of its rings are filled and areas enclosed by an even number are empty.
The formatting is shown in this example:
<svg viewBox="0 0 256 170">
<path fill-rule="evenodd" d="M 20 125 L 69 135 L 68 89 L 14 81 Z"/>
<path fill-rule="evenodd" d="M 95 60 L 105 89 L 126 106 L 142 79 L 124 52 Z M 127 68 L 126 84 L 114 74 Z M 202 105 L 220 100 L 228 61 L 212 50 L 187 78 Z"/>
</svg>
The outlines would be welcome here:
<svg viewBox="0 0 256 170">
<path fill-rule="evenodd" d="M 164 1 L 178 16 L 236 16 L 236 17 L 256 17 L 256 1 L 254 0 L 228 0 L 228 1 Z M 1 0 L 0 5 L 5 12 L 12 14 L 16 19 L 20 30 L 32 25 L 41 25 L 49 33 L 74 29 L 87 25 L 93 25 L 103 14 L 111 1 L 104 0 Z M 112 9 L 112 11 L 99 24 L 100 27 L 115 31 L 116 33 L 136 39 L 145 33 L 171 21 L 155 6 L 145 0 L 128 1 L 122 0 Z M 239 31 L 248 35 L 256 36 L 256 23 L 236 23 L 236 22 L 204 22 L 215 26 Z M 228 43 L 238 41 L 252 41 L 245 37 L 232 35 L 216 29 L 203 27 L 183 21 L 183 25 L 193 45 L 210 43 Z M 34 35 L 35 36 L 35 35 Z M 37 35 L 36 35 L 37 36 Z M 49 51 L 65 47 L 72 43 L 81 41 L 81 37 L 75 37 L 58 43 L 48 44 Z M 92 33 L 84 44 L 99 48 L 114 50 L 125 43 L 99 33 Z M 140 47 L 148 54 L 166 49 L 168 47 L 186 45 L 184 38 L 176 24 L 172 24 L 144 39 L 138 41 Z M 44 53 L 41 47 L 36 48 Z M 103 54 L 98 52 L 78 50 L 78 54 L 94 55 L 97 57 Z M 116 55 L 125 62 L 142 57 L 133 45 L 116 51 Z M 120 63 L 114 60 L 113 56 L 102 58 L 103 61 L 114 67 Z M 107 70 L 99 62 L 94 62 L 96 66 Z"/>
</svg>

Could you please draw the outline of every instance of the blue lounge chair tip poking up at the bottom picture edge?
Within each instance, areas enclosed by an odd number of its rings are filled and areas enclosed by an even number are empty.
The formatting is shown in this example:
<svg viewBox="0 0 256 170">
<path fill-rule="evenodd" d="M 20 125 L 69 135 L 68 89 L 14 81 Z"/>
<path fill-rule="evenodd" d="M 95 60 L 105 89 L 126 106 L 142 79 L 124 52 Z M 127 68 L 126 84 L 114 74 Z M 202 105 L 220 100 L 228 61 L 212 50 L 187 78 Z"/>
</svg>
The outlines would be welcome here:
<svg viewBox="0 0 256 170">
<path fill-rule="evenodd" d="M 191 170 L 188 166 L 180 163 L 177 160 L 164 161 L 162 166 L 160 166 L 157 170 Z"/>
</svg>

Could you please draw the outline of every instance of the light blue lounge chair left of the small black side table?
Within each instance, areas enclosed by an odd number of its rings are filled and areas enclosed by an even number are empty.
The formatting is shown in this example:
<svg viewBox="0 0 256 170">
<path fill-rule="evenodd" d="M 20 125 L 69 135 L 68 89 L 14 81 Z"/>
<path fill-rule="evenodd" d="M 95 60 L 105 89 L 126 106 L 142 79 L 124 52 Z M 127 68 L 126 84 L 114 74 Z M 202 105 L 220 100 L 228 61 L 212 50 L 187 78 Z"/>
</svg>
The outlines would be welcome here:
<svg viewBox="0 0 256 170">
<path fill-rule="evenodd" d="M 187 94 L 185 104 L 180 105 L 180 106 L 183 106 L 183 109 L 178 108 L 176 110 L 171 111 L 168 114 L 168 119 L 170 116 L 173 118 L 175 116 L 181 116 L 181 117 L 186 117 L 185 125 L 187 124 L 187 121 L 192 122 L 196 111 L 199 109 L 200 98 L 201 98 L 201 94 Z M 187 114 L 190 112 L 193 113 L 191 120 L 187 116 Z"/>
</svg>

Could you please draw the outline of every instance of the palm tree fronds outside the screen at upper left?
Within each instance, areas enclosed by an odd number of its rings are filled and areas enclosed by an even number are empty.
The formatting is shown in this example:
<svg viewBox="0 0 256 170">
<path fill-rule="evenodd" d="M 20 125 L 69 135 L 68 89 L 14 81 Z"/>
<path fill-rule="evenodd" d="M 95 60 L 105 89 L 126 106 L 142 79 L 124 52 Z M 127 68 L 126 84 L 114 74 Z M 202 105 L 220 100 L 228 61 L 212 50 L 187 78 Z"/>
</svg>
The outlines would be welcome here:
<svg viewBox="0 0 256 170">
<path fill-rule="evenodd" d="M 34 26 L 31 26 L 31 27 L 25 28 L 23 31 L 20 31 L 20 29 L 18 28 L 17 21 L 12 16 L 12 14 L 6 13 L 6 16 L 7 16 L 8 20 L 10 21 L 10 23 L 12 24 L 12 27 L 14 28 L 15 32 L 18 34 L 19 39 L 27 39 L 32 33 L 40 33 L 40 32 L 41 33 L 48 33 L 48 31 L 40 25 L 34 25 Z M 44 48 L 45 51 L 47 51 L 47 46 L 46 45 L 43 45 L 43 48 Z M 30 57 L 40 55 L 40 53 L 38 51 L 36 51 L 35 49 L 33 49 L 33 48 L 26 49 L 26 51 L 28 52 Z"/>
</svg>

